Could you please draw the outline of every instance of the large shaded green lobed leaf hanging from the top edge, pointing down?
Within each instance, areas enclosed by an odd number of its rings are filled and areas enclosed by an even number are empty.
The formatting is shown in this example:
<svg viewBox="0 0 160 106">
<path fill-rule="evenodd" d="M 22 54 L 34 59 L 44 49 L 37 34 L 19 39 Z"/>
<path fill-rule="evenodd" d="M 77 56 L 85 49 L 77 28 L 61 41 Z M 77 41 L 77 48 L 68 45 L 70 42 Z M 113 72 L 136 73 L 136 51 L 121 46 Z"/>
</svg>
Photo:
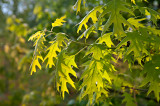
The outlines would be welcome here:
<svg viewBox="0 0 160 106">
<path fill-rule="evenodd" d="M 113 34 L 117 35 L 125 34 L 122 24 L 128 25 L 134 29 L 134 27 L 121 14 L 121 11 L 123 11 L 134 15 L 134 13 L 126 6 L 128 6 L 128 4 L 121 0 L 112 0 L 107 3 L 103 14 L 110 13 L 110 17 L 103 27 L 102 35 L 106 33 L 112 24 L 114 24 Z"/>
</svg>

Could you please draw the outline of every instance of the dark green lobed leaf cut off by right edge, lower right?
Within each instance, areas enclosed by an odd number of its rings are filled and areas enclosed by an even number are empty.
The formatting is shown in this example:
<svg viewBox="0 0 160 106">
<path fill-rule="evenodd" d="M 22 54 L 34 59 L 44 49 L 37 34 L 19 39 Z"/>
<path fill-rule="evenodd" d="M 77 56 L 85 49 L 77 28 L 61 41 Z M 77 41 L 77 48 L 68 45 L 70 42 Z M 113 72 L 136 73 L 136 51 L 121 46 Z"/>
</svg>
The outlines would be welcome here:
<svg viewBox="0 0 160 106">
<path fill-rule="evenodd" d="M 152 57 L 152 60 L 147 62 L 144 65 L 144 70 L 142 75 L 146 75 L 140 87 L 150 83 L 149 90 L 147 94 L 150 94 L 151 91 L 154 92 L 157 101 L 159 101 L 160 93 L 160 55 L 155 55 Z"/>
</svg>

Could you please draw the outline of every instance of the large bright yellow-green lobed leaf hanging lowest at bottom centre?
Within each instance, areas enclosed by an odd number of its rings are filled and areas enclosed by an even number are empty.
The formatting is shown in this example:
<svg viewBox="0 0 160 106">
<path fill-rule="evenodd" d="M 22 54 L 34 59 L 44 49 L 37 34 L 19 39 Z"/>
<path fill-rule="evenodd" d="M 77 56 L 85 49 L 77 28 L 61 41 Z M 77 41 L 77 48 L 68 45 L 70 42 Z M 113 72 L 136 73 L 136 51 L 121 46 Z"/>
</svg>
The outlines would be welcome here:
<svg viewBox="0 0 160 106">
<path fill-rule="evenodd" d="M 87 66 L 85 72 L 81 75 L 83 83 L 80 86 L 80 89 L 86 87 L 84 92 L 81 94 L 81 98 L 88 95 L 90 104 L 93 102 L 94 93 L 96 93 L 98 99 L 101 93 L 104 93 L 108 97 L 108 92 L 104 89 L 104 80 L 106 79 L 111 83 L 110 77 L 105 70 L 103 70 L 104 64 L 97 60 L 91 60 Z"/>
</svg>

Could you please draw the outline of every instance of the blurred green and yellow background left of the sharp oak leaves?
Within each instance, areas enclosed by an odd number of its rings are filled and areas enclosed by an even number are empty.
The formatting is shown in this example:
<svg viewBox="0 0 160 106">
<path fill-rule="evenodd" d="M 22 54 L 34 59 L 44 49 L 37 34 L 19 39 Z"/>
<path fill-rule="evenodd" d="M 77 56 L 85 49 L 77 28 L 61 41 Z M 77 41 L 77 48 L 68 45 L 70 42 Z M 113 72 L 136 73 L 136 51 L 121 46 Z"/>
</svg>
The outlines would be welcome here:
<svg viewBox="0 0 160 106">
<path fill-rule="evenodd" d="M 30 75 L 34 48 L 28 38 L 37 31 L 50 29 L 56 18 L 66 15 L 67 23 L 55 31 L 65 32 L 75 40 L 76 24 L 94 6 L 106 1 L 87 0 L 85 8 L 82 6 L 76 15 L 73 8 L 76 0 L 0 0 L 0 106 L 85 105 L 87 101 L 79 102 L 78 91 L 72 88 L 62 100 L 54 87 L 54 69 L 44 67 Z M 138 5 L 160 11 L 159 0 L 148 2 Z"/>
</svg>

